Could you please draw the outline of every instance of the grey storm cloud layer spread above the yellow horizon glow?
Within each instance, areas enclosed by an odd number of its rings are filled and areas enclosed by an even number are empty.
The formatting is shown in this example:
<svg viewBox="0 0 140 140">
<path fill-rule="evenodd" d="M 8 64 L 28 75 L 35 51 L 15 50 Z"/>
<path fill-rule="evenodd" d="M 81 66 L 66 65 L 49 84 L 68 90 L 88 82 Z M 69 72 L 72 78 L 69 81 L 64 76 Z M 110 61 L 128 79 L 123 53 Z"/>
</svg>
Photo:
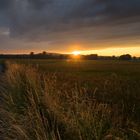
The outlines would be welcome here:
<svg viewBox="0 0 140 140">
<path fill-rule="evenodd" d="M 139 38 L 140 1 L 0 0 L 1 28 L 9 38 L 33 42 Z"/>
</svg>

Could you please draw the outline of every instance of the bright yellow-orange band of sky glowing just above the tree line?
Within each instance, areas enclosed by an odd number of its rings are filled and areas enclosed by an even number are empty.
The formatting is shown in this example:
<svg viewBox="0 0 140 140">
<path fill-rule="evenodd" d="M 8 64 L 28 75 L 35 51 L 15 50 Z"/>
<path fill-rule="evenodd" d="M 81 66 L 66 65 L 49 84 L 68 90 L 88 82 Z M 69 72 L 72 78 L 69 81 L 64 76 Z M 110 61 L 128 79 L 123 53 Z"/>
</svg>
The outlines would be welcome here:
<svg viewBox="0 0 140 140">
<path fill-rule="evenodd" d="M 140 57 L 140 46 L 129 46 L 129 47 L 119 47 L 119 46 L 114 46 L 114 47 L 108 47 L 108 48 L 95 48 L 95 49 L 84 49 L 84 46 L 80 47 L 78 46 L 71 46 L 69 47 L 68 50 L 57 50 L 57 49 L 46 49 L 45 47 L 40 47 L 40 49 L 20 49 L 20 50 L 7 50 L 3 51 L 0 50 L 0 53 L 11 53 L 11 54 L 29 54 L 31 51 L 34 53 L 40 53 L 42 51 L 46 52 L 52 52 L 52 53 L 62 53 L 62 54 L 73 54 L 74 56 L 78 55 L 86 55 L 86 54 L 98 54 L 102 56 L 120 56 L 122 54 L 130 54 L 132 56 L 137 56 Z"/>
</svg>

